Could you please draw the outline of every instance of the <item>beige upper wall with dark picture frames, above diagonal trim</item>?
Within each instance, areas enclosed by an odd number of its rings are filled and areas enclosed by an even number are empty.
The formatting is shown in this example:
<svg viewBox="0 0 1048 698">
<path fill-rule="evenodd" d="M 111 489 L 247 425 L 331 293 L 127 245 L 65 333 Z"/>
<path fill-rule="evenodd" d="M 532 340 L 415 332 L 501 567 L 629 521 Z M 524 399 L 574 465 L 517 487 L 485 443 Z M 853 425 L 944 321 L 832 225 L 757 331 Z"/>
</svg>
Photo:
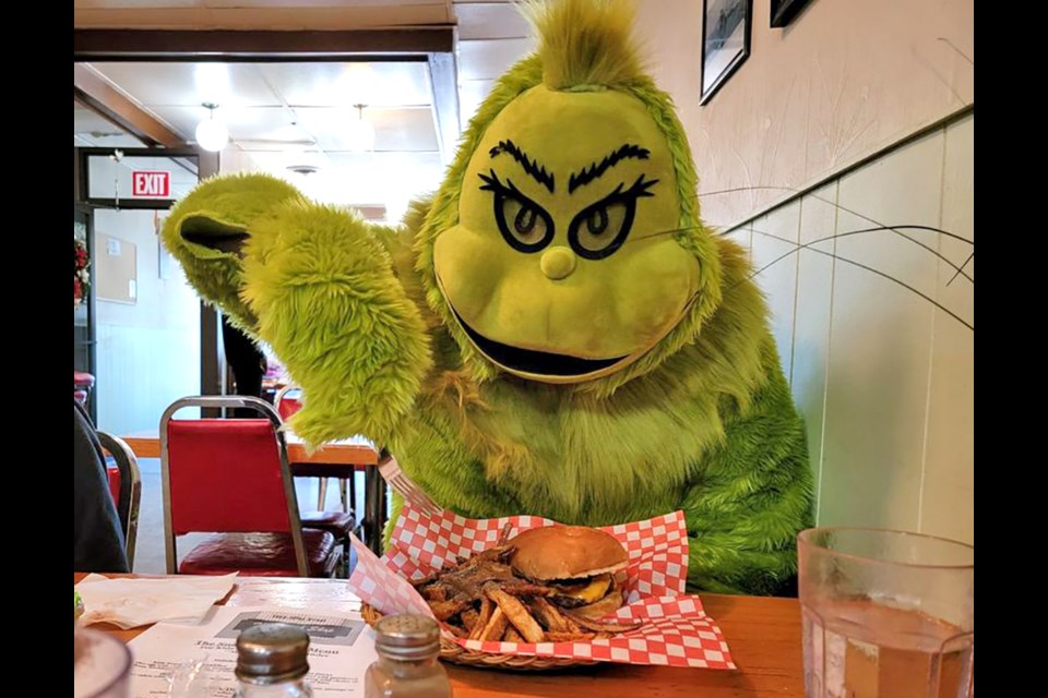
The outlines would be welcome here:
<svg viewBox="0 0 1048 698">
<path fill-rule="evenodd" d="M 640 0 L 639 35 L 728 228 L 975 99 L 973 0 L 810 0 L 785 29 L 753 0 L 750 58 L 699 106 L 702 2 Z M 712 194 L 735 188 L 731 194 Z"/>
</svg>

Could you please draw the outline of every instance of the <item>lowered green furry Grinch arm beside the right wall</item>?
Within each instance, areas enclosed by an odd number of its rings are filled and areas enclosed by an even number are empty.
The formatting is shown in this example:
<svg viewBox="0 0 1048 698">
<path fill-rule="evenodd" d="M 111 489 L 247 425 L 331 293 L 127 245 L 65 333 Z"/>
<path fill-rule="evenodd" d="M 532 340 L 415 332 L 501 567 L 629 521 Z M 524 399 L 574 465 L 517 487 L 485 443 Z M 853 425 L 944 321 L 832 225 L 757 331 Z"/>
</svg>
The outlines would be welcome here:
<svg viewBox="0 0 1048 698">
<path fill-rule="evenodd" d="M 774 348 L 764 354 L 769 382 L 745 412 L 725 416 L 726 441 L 703 464 L 683 500 L 688 581 L 704 591 L 782 589 L 797 569 L 797 533 L 812 524 L 803 422 Z"/>
</svg>

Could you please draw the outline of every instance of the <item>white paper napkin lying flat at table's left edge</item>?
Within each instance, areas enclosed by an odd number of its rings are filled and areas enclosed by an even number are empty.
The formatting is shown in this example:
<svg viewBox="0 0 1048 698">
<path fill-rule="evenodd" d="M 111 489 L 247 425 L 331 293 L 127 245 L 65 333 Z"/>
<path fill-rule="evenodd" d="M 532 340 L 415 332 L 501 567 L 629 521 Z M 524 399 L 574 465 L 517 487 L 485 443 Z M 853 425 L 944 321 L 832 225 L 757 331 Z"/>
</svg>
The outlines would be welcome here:
<svg viewBox="0 0 1048 698">
<path fill-rule="evenodd" d="M 222 577 L 108 579 L 87 575 L 76 585 L 84 600 L 83 625 L 111 623 L 133 628 L 158 621 L 201 618 L 229 590 L 237 573 Z"/>
</svg>

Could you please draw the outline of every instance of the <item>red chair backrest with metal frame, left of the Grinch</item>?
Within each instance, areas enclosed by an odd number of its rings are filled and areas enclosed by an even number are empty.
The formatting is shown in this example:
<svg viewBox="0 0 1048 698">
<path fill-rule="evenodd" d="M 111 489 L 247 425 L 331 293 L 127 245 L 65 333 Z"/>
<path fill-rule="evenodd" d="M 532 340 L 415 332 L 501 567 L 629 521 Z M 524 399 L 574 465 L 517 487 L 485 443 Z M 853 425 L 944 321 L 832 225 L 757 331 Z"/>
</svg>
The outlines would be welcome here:
<svg viewBox="0 0 1048 698">
<path fill-rule="evenodd" d="M 253 409 L 261 419 L 177 420 L 186 407 Z M 168 574 L 183 533 L 289 533 L 308 576 L 298 502 L 281 418 L 254 397 L 190 397 L 160 418 Z"/>
</svg>

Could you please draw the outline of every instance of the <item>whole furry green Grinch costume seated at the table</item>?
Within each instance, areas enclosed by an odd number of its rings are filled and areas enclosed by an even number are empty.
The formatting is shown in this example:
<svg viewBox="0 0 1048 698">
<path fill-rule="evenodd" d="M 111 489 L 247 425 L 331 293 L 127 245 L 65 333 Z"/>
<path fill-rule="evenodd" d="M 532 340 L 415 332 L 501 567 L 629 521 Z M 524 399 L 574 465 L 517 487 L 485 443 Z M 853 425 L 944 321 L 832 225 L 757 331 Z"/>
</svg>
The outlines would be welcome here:
<svg viewBox="0 0 1048 698">
<path fill-rule="evenodd" d="M 812 483 L 747 255 L 700 220 L 629 7 L 527 11 L 537 53 L 498 81 L 402 226 L 230 176 L 172 209 L 165 244 L 286 364 L 310 443 L 386 444 L 469 517 L 682 509 L 692 587 L 774 592 Z"/>
</svg>

